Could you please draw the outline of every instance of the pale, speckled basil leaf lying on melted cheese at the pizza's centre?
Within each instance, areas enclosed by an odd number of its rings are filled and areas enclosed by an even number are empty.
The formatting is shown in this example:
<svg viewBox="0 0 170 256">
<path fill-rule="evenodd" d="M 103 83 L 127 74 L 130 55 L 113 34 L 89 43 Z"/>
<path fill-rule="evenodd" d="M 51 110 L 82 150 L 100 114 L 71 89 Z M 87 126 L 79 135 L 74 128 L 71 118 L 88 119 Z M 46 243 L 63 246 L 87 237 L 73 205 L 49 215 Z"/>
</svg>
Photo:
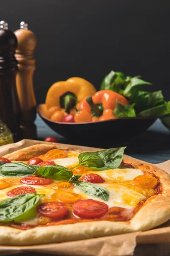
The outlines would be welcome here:
<svg viewBox="0 0 170 256">
<path fill-rule="evenodd" d="M 104 201 L 108 201 L 109 199 L 109 191 L 103 186 L 96 185 L 87 181 L 77 181 L 74 183 L 74 186 L 86 195 L 90 195 L 94 198 L 100 198 Z"/>
</svg>

